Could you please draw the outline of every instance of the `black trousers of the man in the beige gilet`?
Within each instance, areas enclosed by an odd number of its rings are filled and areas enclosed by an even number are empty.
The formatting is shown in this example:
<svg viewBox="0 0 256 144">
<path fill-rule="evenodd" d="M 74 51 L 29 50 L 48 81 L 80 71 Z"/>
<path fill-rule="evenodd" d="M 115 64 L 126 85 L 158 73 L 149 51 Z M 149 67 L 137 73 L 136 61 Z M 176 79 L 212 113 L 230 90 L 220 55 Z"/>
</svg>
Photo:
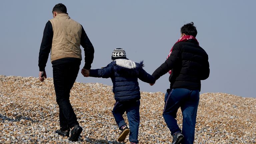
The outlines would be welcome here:
<svg viewBox="0 0 256 144">
<path fill-rule="evenodd" d="M 69 93 L 76 80 L 81 61 L 71 61 L 53 66 L 53 83 L 56 101 L 59 105 L 59 119 L 62 130 L 69 130 L 79 124 L 69 102 Z"/>
</svg>

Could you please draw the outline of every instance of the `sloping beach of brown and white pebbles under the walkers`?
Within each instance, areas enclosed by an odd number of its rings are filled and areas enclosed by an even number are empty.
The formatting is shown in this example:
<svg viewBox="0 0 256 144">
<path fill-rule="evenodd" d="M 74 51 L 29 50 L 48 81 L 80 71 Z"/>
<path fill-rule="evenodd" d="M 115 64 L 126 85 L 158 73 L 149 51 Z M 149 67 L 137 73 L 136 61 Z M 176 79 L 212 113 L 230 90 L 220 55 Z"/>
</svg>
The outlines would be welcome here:
<svg viewBox="0 0 256 144">
<path fill-rule="evenodd" d="M 162 117 L 164 93 L 141 92 L 140 144 L 171 144 Z M 76 82 L 70 102 L 83 128 L 77 142 L 55 133 L 59 107 L 53 79 L 0 75 L 0 143 L 129 144 L 117 142 L 120 131 L 112 115 L 112 86 Z M 127 122 L 127 117 L 126 118 Z M 182 114 L 177 113 L 182 128 Z M 128 122 L 127 122 L 128 123 Z M 256 99 L 226 93 L 203 93 L 197 112 L 195 144 L 256 144 Z"/>
</svg>

